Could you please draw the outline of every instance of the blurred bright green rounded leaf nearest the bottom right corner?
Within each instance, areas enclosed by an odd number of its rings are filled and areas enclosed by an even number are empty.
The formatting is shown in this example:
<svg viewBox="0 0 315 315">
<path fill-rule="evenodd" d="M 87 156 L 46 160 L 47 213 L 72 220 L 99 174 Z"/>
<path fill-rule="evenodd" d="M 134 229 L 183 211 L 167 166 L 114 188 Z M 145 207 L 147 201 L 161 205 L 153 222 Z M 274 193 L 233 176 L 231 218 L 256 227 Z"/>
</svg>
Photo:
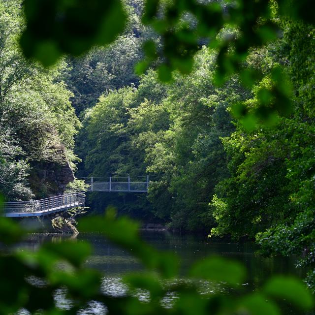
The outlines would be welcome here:
<svg viewBox="0 0 315 315">
<path fill-rule="evenodd" d="M 287 300 L 301 309 L 311 309 L 314 306 L 314 297 L 300 280 L 289 276 L 276 276 L 270 279 L 263 287 L 263 291 L 279 299 Z"/>
</svg>

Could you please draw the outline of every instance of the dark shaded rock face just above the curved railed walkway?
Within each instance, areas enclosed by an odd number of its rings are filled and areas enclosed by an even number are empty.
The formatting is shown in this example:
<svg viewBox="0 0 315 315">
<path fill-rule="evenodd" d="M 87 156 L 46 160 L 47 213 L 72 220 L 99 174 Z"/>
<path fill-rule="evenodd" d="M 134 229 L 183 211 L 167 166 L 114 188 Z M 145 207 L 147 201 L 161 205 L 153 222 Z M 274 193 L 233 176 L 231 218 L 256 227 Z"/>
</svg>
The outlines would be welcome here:
<svg viewBox="0 0 315 315">
<path fill-rule="evenodd" d="M 74 180 L 69 163 L 63 165 L 54 162 L 32 163 L 30 174 L 31 189 L 35 199 L 63 194 L 66 185 Z"/>
</svg>

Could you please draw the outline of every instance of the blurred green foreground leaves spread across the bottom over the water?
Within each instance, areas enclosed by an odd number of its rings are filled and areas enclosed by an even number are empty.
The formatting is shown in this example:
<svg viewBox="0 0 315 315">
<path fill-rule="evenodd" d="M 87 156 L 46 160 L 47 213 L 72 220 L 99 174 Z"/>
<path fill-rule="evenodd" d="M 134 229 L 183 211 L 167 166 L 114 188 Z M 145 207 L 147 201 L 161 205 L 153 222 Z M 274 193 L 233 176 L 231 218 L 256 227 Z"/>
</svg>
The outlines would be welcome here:
<svg viewBox="0 0 315 315">
<path fill-rule="evenodd" d="M 19 229 L 8 218 L 0 218 L 1 243 L 8 243 Z M 158 252 L 143 243 L 139 226 L 127 218 L 117 218 L 114 209 L 104 216 L 84 219 L 79 228 L 86 232 L 101 232 L 114 244 L 134 254 L 144 266 L 143 272 L 124 278 L 128 291 L 115 297 L 102 293 L 102 275 L 84 266 L 91 254 L 87 243 L 65 241 L 44 244 L 36 252 L 15 252 L 0 256 L 0 314 L 12 314 L 21 308 L 32 314 L 77 314 L 89 301 L 106 305 L 107 314 L 281 314 L 278 301 L 292 303 L 294 308 L 310 310 L 314 305 L 312 294 L 300 280 L 274 277 L 257 292 L 246 292 L 242 282 L 246 271 L 237 262 L 222 257 L 208 257 L 196 262 L 189 272 L 189 281 L 178 280 L 178 257 Z M 16 238 L 17 240 L 17 238 Z M 171 281 L 168 281 L 170 279 Z M 199 280 L 231 286 L 237 294 L 201 294 Z M 150 300 L 140 301 L 134 291 L 144 289 Z M 63 290 L 70 303 L 62 310 L 56 305 L 56 290 Z M 171 307 L 163 306 L 163 299 L 173 294 L 176 299 Z"/>
</svg>

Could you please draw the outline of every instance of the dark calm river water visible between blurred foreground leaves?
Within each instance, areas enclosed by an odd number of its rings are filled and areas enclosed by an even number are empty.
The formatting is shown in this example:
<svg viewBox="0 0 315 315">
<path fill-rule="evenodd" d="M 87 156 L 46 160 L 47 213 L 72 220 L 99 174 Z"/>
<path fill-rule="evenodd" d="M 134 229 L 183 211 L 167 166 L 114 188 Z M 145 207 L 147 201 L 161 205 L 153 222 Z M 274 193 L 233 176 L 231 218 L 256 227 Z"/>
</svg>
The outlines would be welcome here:
<svg viewBox="0 0 315 315">
<path fill-rule="evenodd" d="M 295 257 L 263 257 L 257 254 L 257 247 L 252 243 L 234 243 L 221 239 L 202 239 L 187 235 L 178 235 L 165 231 L 142 231 L 143 239 L 158 250 L 171 251 L 181 257 L 181 279 L 185 279 L 185 273 L 189 266 L 198 259 L 216 254 L 241 261 L 248 270 L 248 278 L 244 284 L 248 289 L 254 290 L 264 283 L 264 281 L 274 274 L 296 275 L 304 277 L 305 271 L 294 266 Z M 69 236 L 51 234 L 31 234 L 19 245 L 19 250 L 36 250 L 43 242 L 59 242 Z M 98 234 L 79 234 L 71 237 L 77 242 L 88 241 L 94 247 L 94 253 L 86 261 L 86 265 L 100 270 L 103 275 L 102 289 L 112 295 L 123 295 L 126 293 L 126 286 L 122 283 L 124 274 L 132 271 L 140 271 L 141 264 L 126 251 L 113 246 L 103 236 Z M 221 284 L 203 282 L 201 290 L 204 293 L 224 291 Z M 139 291 L 137 296 L 140 300 L 148 299 L 146 292 Z M 168 296 L 163 302 L 165 307 L 169 307 L 176 297 Z M 64 292 L 56 294 L 56 299 L 60 307 L 67 308 L 70 301 L 64 298 Z M 105 306 L 96 302 L 91 302 L 88 309 L 81 314 L 105 314 Z M 285 310 L 285 314 L 296 314 L 293 310 Z M 21 313 L 21 314 L 27 314 Z"/>
</svg>

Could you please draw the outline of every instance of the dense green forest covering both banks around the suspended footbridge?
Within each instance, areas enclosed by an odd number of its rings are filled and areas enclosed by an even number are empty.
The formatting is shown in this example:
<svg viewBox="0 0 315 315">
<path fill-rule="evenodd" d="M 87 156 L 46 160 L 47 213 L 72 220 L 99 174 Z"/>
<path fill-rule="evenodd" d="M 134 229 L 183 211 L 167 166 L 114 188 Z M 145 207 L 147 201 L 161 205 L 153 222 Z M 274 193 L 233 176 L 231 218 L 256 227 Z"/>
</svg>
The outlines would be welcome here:
<svg viewBox="0 0 315 315">
<path fill-rule="evenodd" d="M 174 70 L 165 84 L 163 58 L 135 74 L 145 41 L 159 50 L 161 40 L 141 22 L 141 0 L 124 5 L 126 29 L 113 43 L 79 58 L 65 55 L 47 69 L 18 45 L 21 1 L 1 0 L 0 191 L 8 200 L 30 200 L 62 193 L 73 172 L 148 174 L 148 195 L 94 192 L 91 211 L 113 204 L 119 213 L 169 228 L 256 239 L 266 253 L 297 254 L 300 265 L 312 265 L 314 25 L 273 8 L 280 31 L 250 49 L 240 65 L 248 72 L 216 84 L 221 55 L 202 39 L 191 71 Z M 229 36 L 237 30 L 218 34 Z M 246 84 L 250 71 L 253 84 Z M 285 104 L 269 111 L 275 82 Z"/>
</svg>

